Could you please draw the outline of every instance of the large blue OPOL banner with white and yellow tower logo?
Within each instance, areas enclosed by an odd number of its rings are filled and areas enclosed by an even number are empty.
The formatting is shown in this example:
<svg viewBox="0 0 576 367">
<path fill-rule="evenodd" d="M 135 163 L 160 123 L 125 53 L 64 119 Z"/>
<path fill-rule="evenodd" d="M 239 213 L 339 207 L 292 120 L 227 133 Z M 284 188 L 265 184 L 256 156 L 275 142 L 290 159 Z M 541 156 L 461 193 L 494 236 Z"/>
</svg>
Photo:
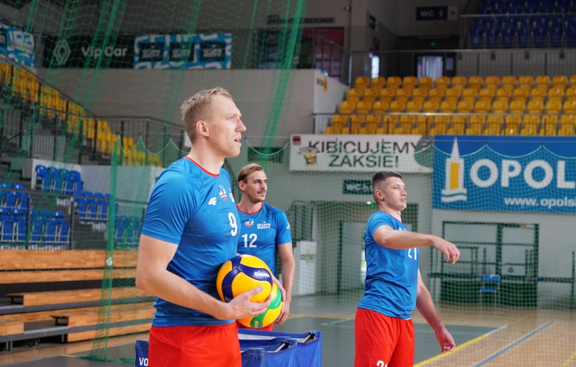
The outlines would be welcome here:
<svg viewBox="0 0 576 367">
<path fill-rule="evenodd" d="M 437 138 L 434 208 L 576 213 L 574 137 Z"/>
</svg>

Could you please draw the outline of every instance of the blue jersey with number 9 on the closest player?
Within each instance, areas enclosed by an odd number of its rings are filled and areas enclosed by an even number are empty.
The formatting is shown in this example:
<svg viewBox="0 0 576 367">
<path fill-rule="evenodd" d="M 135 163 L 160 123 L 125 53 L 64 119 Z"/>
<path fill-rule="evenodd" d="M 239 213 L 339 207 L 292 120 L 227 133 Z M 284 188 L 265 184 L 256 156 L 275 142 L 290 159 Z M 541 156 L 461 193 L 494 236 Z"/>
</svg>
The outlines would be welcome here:
<svg viewBox="0 0 576 367">
<path fill-rule="evenodd" d="M 142 234 L 177 244 L 168 271 L 219 299 L 216 275 L 236 256 L 240 218 L 223 168 L 204 171 L 188 157 L 162 172 L 150 195 Z M 154 326 L 227 324 L 203 312 L 156 298 Z"/>
</svg>

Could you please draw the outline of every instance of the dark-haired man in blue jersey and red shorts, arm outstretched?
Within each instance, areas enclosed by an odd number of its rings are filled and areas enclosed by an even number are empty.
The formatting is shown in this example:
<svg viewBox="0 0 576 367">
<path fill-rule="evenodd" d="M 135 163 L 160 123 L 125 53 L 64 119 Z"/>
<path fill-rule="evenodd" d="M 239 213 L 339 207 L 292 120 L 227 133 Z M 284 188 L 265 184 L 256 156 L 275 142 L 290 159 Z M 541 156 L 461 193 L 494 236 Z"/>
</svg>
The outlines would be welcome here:
<svg viewBox="0 0 576 367">
<path fill-rule="evenodd" d="M 372 192 L 379 210 L 366 223 L 366 283 L 354 320 L 354 366 L 412 366 L 414 307 L 434 329 L 442 353 L 456 347 L 420 276 L 419 248 L 434 246 L 452 264 L 460 251 L 452 242 L 402 224 L 406 186 L 399 173 L 376 173 Z"/>
</svg>

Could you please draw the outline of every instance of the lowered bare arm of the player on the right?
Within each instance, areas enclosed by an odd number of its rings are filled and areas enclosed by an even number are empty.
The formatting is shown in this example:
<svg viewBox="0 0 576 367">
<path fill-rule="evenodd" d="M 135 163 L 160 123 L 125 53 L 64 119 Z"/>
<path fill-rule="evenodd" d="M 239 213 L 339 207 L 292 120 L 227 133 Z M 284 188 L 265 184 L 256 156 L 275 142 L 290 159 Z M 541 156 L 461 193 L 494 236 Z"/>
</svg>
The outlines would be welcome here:
<svg viewBox="0 0 576 367">
<path fill-rule="evenodd" d="M 452 334 L 446 330 L 444 323 L 440 319 L 440 315 L 436 311 L 436 307 L 434 307 L 434 302 L 432 300 L 432 296 L 424 285 L 422 281 L 422 275 L 420 275 L 420 269 L 418 269 L 418 290 L 416 291 L 416 308 L 426 319 L 426 322 L 430 324 L 432 329 L 436 334 L 436 339 L 442 349 L 442 353 L 446 353 L 447 351 L 453 351 L 456 347 L 456 343 L 454 343 L 454 338 L 452 338 Z"/>
</svg>

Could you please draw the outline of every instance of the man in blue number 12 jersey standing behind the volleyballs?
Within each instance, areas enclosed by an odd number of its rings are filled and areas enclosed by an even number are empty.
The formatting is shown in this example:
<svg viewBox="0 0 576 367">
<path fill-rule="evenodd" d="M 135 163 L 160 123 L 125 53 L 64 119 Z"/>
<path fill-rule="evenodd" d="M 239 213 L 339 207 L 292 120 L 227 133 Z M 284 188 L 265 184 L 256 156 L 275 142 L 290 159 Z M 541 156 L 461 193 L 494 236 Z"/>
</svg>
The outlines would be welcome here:
<svg viewBox="0 0 576 367">
<path fill-rule="evenodd" d="M 268 190 L 268 177 L 264 168 L 255 163 L 247 164 L 238 173 L 238 187 L 242 199 L 238 203 L 240 212 L 240 238 L 238 253 L 251 254 L 266 262 L 276 276 L 276 251 L 282 265 L 282 285 L 286 290 L 284 308 L 275 324 L 283 324 L 290 314 L 290 301 L 294 285 L 295 261 L 292 252 L 290 223 L 286 214 L 264 203 Z M 272 330 L 273 324 L 259 329 Z M 238 327 L 244 327 L 238 323 Z"/>
</svg>

